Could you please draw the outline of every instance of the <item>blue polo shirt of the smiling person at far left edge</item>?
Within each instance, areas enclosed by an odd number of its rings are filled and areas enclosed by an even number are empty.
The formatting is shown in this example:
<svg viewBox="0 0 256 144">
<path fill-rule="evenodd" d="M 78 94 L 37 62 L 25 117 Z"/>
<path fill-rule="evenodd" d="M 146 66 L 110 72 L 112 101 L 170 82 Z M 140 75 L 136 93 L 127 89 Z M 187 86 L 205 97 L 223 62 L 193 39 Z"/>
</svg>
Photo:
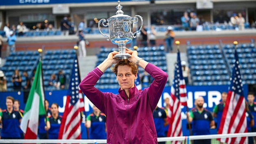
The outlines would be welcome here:
<svg viewBox="0 0 256 144">
<path fill-rule="evenodd" d="M 3 110 L 0 112 L 0 116 L 3 126 L 1 137 L 20 139 L 20 119 L 22 119 L 20 113 L 14 110 L 11 113 Z"/>
</svg>

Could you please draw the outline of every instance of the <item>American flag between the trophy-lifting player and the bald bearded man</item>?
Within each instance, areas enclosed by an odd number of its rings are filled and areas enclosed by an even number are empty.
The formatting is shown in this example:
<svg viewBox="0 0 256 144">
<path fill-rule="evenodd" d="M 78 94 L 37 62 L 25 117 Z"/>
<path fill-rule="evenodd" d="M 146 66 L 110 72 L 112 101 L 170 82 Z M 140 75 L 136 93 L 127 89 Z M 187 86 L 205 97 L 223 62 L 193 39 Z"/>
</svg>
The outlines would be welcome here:
<svg viewBox="0 0 256 144">
<path fill-rule="evenodd" d="M 167 136 L 182 136 L 180 105 L 187 106 L 187 89 L 185 86 L 185 80 L 182 75 L 180 51 L 178 51 L 177 62 L 175 64 L 174 70 L 174 80 L 171 86 L 171 100 L 169 105 L 170 112 L 168 112 L 170 125 Z M 174 143 L 180 142 L 176 141 Z"/>
</svg>

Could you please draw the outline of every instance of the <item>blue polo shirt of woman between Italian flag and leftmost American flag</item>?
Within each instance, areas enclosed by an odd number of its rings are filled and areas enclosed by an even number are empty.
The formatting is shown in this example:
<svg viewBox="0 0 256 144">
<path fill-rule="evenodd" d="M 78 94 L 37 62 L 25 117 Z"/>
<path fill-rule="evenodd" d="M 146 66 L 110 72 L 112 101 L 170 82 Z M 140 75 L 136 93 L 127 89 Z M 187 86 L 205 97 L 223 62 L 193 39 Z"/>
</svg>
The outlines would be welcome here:
<svg viewBox="0 0 256 144">
<path fill-rule="evenodd" d="M 58 116 L 57 119 L 54 119 L 51 115 L 48 116 L 50 122 L 50 129 L 48 130 L 49 139 L 58 139 L 59 129 L 61 127 L 62 116 Z"/>
</svg>

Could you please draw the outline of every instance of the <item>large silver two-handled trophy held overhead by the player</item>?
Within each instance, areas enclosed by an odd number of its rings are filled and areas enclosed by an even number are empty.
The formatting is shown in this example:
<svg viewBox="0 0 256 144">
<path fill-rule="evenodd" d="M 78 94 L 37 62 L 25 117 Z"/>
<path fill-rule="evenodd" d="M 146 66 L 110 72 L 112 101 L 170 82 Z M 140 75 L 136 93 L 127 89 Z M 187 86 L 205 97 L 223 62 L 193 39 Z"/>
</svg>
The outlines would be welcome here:
<svg viewBox="0 0 256 144">
<path fill-rule="evenodd" d="M 103 36 L 107 36 L 107 40 L 111 40 L 113 44 L 118 45 L 118 51 L 119 53 L 114 56 L 114 58 L 117 59 L 128 59 L 131 57 L 129 53 L 126 53 L 126 44 L 132 42 L 133 38 L 136 38 L 135 34 L 141 31 L 142 25 L 143 25 L 143 19 L 140 15 L 135 15 L 134 17 L 130 17 L 129 15 L 124 15 L 124 12 L 121 10 L 123 6 L 120 5 L 120 1 L 118 2 L 117 12 L 116 15 L 113 15 L 112 17 L 106 19 L 101 19 L 98 22 L 98 28 L 100 33 Z M 139 21 L 139 18 L 141 19 L 141 27 L 138 31 L 133 33 L 133 23 L 137 23 Z M 106 34 L 103 34 L 100 30 L 100 23 L 104 27 L 108 26 L 109 30 L 109 36 Z M 107 22 L 107 23 L 106 23 Z M 106 24 L 104 24 L 106 23 Z"/>
</svg>

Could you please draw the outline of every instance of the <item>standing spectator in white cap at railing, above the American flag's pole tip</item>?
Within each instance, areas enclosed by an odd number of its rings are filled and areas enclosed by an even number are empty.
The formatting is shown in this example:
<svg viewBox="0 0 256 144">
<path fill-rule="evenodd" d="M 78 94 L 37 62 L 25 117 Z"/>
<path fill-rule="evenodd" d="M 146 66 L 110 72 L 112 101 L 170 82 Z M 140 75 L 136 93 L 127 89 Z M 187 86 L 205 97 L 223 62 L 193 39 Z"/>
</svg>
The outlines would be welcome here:
<svg viewBox="0 0 256 144">
<path fill-rule="evenodd" d="M 165 32 L 165 43 L 166 43 L 166 52 L 173 51 L 172 45 L 174 43 L 175 33 L 171 26 L 167 27 L 167 31 Z"/>
</svg>

